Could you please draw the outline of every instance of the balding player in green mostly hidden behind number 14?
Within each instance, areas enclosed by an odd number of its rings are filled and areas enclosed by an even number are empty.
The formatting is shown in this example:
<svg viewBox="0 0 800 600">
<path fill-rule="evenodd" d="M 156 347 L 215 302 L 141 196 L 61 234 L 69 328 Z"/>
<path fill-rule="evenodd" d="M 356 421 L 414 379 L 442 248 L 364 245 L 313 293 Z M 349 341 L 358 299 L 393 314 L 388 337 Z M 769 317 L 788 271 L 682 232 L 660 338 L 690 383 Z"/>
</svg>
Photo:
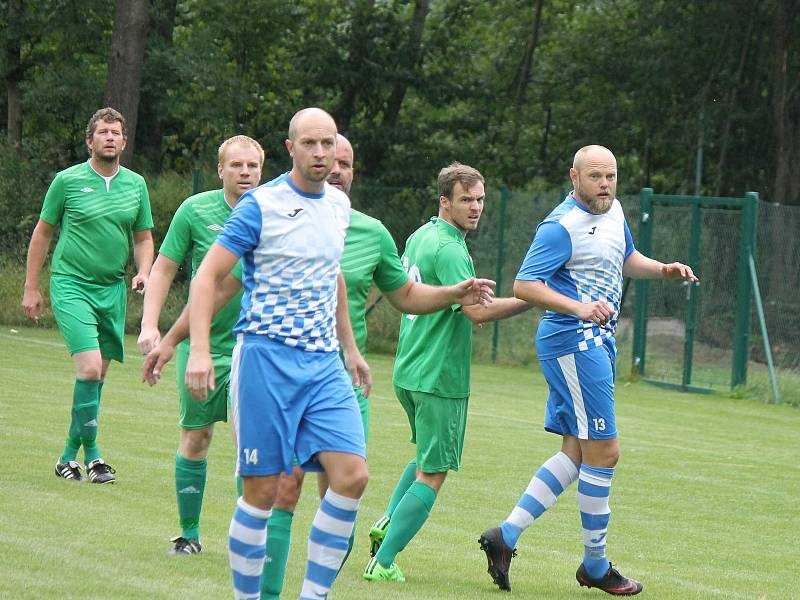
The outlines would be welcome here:
<svg viewBox="0 0 800 600">
<path fill-rule="evenodd" d="M 328 182 L 349 194 L 353 175 L 353 148 L 347 138 L 337 135 L 336 156 Z M 458 302 L 465 305 L 488 302 L 491 300 L 491 290 L 494 285 L 489 280 L 473 281 L 471 277 L 467 278 L 467 281 L 457 282 L 457 285 L 439 288 L 410 280 L 402 267 L 397 246 L 388 230 L 377 219 L 356 210 L 351 210 L 350 213 L 350 227 L 345 238 L 341 264 L 347 286 L 347 303 L 353 333 L 362 354 L 366 349 L 367 340 L 366 303 L 373 282 L 398 310 L 420 314 L 440 310 Z M 239 284 L 232 279 L 226 278 L 224 284 L 228 288 L 234 286 L 238 289 Z M 230 293 L 232 292 L 229 291 L 224 295 L 229 296 Z M 181 315 L 179 321 L 165 335 L 159 348 L 148 355 L 143 379 L 152 382 L 158 378 L 162 366 L 172 356 L 172 347 L 177 340 L 187 335 L 187 331 L 188 320 L 185 315 Z M 366 437 L 369 404 L 359 388 L 356 388 L 356 397 Z M 300 497 L 303 475 L 303 471 L 296 467 L 291 476 L 281 474 L 278 480 L 278 495 L 268 523 L 267 558 L 261 577 L 262 599 L 278 598 L 283 589 L 292 518 Z M 328 487 L 324 473 L 318 475 L 317 484 L 320 496 L 323 496 Z"/>
</svg>

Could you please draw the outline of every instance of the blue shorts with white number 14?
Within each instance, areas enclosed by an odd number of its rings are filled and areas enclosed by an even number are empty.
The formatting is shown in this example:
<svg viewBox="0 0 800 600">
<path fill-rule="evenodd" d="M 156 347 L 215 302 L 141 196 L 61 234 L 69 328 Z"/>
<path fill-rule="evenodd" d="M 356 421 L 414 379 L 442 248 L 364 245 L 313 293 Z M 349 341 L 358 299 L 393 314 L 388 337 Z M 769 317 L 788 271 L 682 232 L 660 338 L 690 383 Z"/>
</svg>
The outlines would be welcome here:
<svg viewBox="0 0 800 600">
<path fill-rule="evenodd" d="M 366 458 L 361 413 L 337 352 L 240 334 L 230 393 L 242 477 L 291 474 L 295 456 L 304 470 L 319 471 L 318 452 Z"/>
</svg>

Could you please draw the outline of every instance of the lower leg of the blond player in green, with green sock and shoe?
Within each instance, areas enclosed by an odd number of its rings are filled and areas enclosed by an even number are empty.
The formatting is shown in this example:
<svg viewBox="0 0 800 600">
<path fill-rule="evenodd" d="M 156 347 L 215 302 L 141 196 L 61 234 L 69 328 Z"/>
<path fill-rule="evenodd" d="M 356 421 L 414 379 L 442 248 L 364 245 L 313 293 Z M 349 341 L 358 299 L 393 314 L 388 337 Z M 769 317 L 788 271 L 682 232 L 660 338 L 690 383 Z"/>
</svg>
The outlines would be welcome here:
<svg viewBox="0 0 800 600">
<path fill-rule="evenodd" d="M 181 428 L 181 441 L 175 454 L 175 497 L 181 535 L 172 538 L 173 556 L 200 552 L 200 512 L 206 489 L 208 448 L 214 425 L 199 429 Z"/>
</svg>

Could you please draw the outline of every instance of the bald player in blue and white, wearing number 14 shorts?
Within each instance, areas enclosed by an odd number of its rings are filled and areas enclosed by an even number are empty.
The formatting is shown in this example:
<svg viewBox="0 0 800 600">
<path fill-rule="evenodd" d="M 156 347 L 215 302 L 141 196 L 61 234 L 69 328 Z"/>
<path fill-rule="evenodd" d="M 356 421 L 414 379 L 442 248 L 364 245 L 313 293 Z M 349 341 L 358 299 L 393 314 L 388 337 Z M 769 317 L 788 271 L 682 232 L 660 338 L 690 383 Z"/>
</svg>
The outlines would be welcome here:
<svg viewBox="0 0 800 600">
<path fill-rule="evenodd" d="M 242 310 L 234 327 L 231 412 L 243 479 L 229 531 L 236 598 L 259 597 L 266 525 L 278 475 L 324 469 L 330 487 L 311 526 L 301 598 L 325 598 L 347 552 L 367 484 L 364 431 L 353 385 L 371 383 L 347 314 L 339 260 L 350 218 L 347 195 L 326 183 L 336 125 L 299 111 L 286 148 L 292 170 L 244 194 L 192 281 L 186 385 L 214 386 L 209 325 L 215 287 L 242 258 Z"/>
</svg>

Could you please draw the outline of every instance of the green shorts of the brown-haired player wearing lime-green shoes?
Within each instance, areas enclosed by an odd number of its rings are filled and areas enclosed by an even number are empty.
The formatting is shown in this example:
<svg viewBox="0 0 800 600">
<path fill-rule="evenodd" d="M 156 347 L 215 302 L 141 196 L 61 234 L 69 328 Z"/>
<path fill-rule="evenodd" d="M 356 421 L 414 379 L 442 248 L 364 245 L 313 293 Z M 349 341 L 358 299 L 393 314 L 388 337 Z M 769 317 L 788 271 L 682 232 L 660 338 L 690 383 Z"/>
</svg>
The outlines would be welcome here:
<svg viewBox="0 0 800 600">
<path fill-rule="evenodd" d="M 423 473 L 458 471 L 469 398 L 442 398 L 397 386 L 394 392 L 408 415 L 411 443 L 417 445 L 417 467 Z"/>
</svg>

